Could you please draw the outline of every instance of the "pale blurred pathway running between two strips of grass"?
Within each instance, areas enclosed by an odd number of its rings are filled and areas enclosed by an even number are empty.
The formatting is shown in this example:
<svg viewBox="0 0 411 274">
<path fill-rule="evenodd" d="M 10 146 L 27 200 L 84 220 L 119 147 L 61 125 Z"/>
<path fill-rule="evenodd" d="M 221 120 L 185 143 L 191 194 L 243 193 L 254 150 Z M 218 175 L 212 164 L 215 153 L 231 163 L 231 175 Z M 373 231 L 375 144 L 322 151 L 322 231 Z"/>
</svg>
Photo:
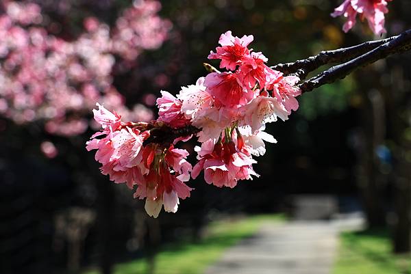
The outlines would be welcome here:
<svg viewBox="0 0 411 274">
<path fill-rule="evenodd" d="M 206 274 L 329 274 L 339 225 L 330 221 L 264 223 Z"/>
</svg>

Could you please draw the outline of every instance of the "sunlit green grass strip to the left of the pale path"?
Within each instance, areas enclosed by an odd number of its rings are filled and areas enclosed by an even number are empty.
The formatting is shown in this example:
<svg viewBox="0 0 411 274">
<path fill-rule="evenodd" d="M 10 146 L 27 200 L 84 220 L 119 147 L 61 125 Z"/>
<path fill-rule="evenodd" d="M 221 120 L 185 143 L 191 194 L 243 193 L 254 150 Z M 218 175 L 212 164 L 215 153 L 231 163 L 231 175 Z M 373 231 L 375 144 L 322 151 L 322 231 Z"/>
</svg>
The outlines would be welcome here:
<svg viewBox="0 0 411 274">
<path fill-rule="evenodd" d="M 173 243 L 164 246 L 155 257 L 155 274 L 201 274 L 216 262 L 223 251 L 255 233 L 266 221 L 284 221 L 284 215 L 257 215 L 236 221 L 215 221 L 208 226 L 199 243 Z M 147 273 L 147 260 L 116 264 L 114 274 Z M 97 274 L 88 271 L 84 274 Z"/>
</svg>

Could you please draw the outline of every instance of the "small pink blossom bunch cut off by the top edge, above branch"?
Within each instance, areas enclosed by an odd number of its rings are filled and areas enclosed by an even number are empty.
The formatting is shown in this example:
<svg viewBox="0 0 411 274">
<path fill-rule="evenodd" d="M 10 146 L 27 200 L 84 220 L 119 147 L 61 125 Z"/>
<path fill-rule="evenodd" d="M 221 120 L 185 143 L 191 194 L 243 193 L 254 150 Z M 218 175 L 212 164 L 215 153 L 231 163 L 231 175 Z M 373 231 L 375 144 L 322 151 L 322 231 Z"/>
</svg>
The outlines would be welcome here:
<svg viewBox="0 0 411 274">
<path fill-rule="evenodd" d="M 331 15 L 333 17 L 343 15 L 347 18 L 343 26 L 343 30 L 347 32 L 356 25 L 356 17 L 359 14 L 361 20 L 366 18 L 373 33 L 382 35 L 386 33 L 384 22 L 389 1 L 392 0 L 345 0 Z"/>
</svg>

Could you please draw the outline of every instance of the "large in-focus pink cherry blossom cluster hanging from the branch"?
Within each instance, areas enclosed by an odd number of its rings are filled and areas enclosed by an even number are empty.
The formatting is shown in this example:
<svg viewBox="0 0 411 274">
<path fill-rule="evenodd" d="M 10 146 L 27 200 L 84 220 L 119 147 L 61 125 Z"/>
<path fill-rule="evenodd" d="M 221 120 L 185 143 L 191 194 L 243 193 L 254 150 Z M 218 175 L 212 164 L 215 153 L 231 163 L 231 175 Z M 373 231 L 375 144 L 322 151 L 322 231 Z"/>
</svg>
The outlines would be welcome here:
<svg viewBox="0 0 411 274">
<path fill-rule="evenodd" d="M 101 172 L 110 180 L 125 183 L 134 197 L 146 198 L 145 209 L 157 217 L 162 206 L 175 213 L 179 199 L 190 196 L 185 182 L 197 178 L 201 171 L 208 184 L 235 187 L 238 180 L 258 176 L 253 170 L 254 156 L 265 152 L 264 141 L 275 143 L 264 132 L 265 124 L 277 118 L 287 120 L 297 110 L 298 77 L 284 76 L 266 66 L 267 58 L 249 49 L 253 36 L 220 37 L 216 53 L 209 59 L 220 59 L 220 68 L 195 85 L 182 87 L 177 97 L 162 91 L 158 98 L 158 120 L 150 123 L 123 122 L 119 115 L 101 105 L 95 109 L 95 120 L 102 130 L 95 133 L 86 148 L 95 150 Z M 201 146 L 196 146 L 198 163 L 192 167 L 186 150 L 175 148 L 177 141 L 187 141 L 190 134 L 169 141 L 153 141 L 162 129 L 174 131 L 195 127 Z M 102 137 L 101 137 L 102 136 Z M 167 138 L 164 138 L 166 140 Z"/>
</svg>

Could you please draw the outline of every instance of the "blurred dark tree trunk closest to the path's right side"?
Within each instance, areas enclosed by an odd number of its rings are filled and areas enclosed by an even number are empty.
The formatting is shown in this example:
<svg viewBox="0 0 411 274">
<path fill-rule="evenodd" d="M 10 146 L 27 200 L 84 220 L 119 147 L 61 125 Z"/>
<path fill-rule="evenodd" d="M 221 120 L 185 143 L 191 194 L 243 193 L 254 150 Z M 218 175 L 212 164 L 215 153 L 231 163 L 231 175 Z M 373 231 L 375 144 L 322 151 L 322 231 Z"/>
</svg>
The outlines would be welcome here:
<svg viewBox="0 0 411 274">
<path fill-rule="evenodd" d="M 376 148 L 385 138 L 384 99 L 378 90 L 370 90 L 373 83 L 364 79 L 371 79 L 373 72 L 359 72 L 358 81 L 362 96 L 362 145 L 359 151 L 360 168 L 358 170 L 358 187 L 362 196 L 362 204 L 369 228 L 381 227 L 386 224 L 384 212 L 384 197 L 382 187 L 384 182 L 379 176 Z M 364 84 L 362 84 L 365 82 Z"/>
</svg>

